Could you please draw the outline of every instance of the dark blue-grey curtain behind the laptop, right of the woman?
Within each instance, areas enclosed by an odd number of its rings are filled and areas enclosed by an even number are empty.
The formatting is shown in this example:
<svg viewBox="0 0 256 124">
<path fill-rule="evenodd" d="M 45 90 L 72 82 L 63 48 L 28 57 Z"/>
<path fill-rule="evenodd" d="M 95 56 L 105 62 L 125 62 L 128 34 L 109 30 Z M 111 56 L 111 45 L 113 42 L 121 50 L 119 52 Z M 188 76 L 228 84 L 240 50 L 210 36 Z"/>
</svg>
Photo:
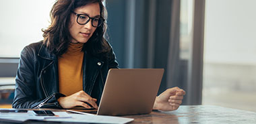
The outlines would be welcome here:
<svg viewBox="0 0 256 124">
<path fill-rule="evenodd" d="M 191 62 L 179 57 L 180 7 L 179 0 L 106 1 L 108 41 L 120 68 L 164 68 L 158 94 L 173 86 L 191 91 L 193 84 L 188 80 Z M 201 88 L 193 88 L 201 98 Z M 193 101 L 188 97 L 191 95 L 185 96 L 183 105 L 201 104 L 200 98 Z"/>
</svg>

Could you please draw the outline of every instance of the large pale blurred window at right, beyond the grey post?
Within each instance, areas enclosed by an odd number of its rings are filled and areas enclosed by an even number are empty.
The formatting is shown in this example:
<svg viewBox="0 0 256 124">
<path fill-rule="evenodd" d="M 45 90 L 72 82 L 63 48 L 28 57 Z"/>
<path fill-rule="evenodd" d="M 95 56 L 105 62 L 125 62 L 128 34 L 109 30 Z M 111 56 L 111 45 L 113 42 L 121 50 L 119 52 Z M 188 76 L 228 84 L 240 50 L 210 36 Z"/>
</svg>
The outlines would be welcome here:
<svg viewBox="0 0 256 124">
<path fill-rule="evenodd" d="M 206 1 L 204 105 L 256 111 L 256 1 Z"/>
</svg>

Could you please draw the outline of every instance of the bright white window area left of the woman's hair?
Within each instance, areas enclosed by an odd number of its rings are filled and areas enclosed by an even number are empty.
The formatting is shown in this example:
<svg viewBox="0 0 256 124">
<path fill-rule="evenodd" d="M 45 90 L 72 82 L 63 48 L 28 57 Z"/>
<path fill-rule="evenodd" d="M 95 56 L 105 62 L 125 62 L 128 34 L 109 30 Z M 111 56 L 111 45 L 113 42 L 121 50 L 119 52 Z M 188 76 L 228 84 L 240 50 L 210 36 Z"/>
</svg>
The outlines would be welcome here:
<svg viewBox="0 0 256 124">
<path fill-rule="evenodd" d="M 24 46 L 42 40 L 55 0 L 0 0 L 0 57 L 19 57 Z"/>
</svg>

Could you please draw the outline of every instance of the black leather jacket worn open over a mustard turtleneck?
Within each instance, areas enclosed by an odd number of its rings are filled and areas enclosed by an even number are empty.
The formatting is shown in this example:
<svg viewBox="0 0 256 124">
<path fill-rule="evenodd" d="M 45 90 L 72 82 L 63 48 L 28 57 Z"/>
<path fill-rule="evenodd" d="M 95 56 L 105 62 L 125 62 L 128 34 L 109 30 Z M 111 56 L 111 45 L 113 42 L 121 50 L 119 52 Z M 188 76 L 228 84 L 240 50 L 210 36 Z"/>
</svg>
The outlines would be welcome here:
<svg viewBox="0 0 256 124">
<path fill-rule="evenodd" d="M 110 68 L 118 68 L 114 53 L 108 59 L 84 53 L 83 89 L 97 104 Z M 59 93 L 58 59 L 42 42 L 22 50 L 15 83 L 13 108 L 61 108 L 57 99 L 65 95 Z"/>
</svg>

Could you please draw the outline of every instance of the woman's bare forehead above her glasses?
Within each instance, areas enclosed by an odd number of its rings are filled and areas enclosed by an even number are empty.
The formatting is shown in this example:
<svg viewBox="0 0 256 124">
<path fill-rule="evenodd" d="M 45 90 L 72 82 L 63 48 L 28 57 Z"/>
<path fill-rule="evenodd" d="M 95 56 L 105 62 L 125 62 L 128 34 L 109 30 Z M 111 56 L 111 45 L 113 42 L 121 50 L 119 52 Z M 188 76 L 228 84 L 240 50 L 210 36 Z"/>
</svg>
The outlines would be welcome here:
<svg viewBox="0 0 256 124">
<path fill-rule="evenodd" d="M 87 5 L 84 5 L 82 7 L 78 7 L 75 9 L 76 13 L 84 13 L 89 16 L 96 16 L 100 15 L 100 5 L 99 3 L 89 3 Z"/>
</svg>

